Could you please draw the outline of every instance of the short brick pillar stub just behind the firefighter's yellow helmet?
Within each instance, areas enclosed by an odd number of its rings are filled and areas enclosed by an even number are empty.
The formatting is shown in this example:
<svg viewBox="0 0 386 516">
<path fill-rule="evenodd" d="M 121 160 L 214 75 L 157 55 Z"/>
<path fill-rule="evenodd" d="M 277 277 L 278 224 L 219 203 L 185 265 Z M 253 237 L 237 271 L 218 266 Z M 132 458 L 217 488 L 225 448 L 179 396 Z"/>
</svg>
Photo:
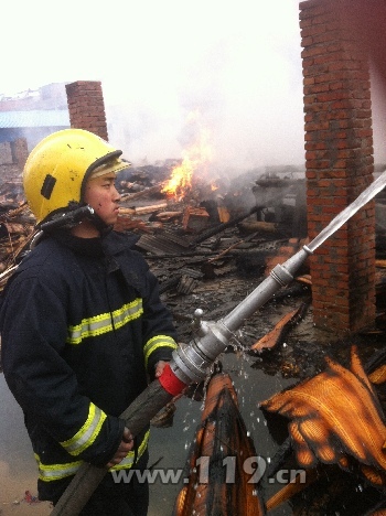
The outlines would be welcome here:
<svg viewBox="0 0 386 516">
<path fill-rule="evenodd" d="M 77 80 L 66 85 L 71 127 L 86 129 L 108 140 L 101 85 L 95 80 Z"/>
</svg>

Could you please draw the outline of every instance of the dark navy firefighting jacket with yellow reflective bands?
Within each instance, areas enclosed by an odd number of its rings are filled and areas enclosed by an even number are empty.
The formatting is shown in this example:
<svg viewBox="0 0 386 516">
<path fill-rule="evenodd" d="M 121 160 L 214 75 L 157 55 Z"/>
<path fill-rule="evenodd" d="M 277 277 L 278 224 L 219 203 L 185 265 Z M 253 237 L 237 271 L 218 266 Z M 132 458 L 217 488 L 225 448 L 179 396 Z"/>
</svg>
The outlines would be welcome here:
<svg viewBox="0 0 386 516">
<path fill-rule="evenodd" d="M 52 499 L 83 461 L 105 465 L 121 441 L 119 415 L 176 347 L 172 319 L 133 240 L 109 232 L 61 232 L 19 265 L 0 312 L 2 365 L 39 464 L 39 494 Z M 131 467 L 136 449 L 114 469 Z"/>
</svg>

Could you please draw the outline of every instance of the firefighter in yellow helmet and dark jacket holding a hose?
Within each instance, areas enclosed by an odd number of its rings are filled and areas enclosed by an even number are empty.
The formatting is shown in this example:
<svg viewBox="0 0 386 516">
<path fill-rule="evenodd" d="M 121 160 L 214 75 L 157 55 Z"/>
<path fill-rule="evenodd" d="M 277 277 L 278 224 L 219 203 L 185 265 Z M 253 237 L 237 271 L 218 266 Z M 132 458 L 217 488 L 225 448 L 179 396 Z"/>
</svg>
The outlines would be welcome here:
<svg viewBox="0 0 386 516">
<path fill-rule="evenodd" d="M 108 469 L 83 509 L 146 515 L 149 428 L 132 437 L 119 415 L 161 375 L 176 334 L 137 237 L 112 229 L 116 174 L 129 163 L 99 137 L 65 129 L 43 139 L 23 172 L 39 238 L 3 290 L 3 373 L 39 466 L 39 498 L 55 505 L 79 465 Z"/>
</svg>

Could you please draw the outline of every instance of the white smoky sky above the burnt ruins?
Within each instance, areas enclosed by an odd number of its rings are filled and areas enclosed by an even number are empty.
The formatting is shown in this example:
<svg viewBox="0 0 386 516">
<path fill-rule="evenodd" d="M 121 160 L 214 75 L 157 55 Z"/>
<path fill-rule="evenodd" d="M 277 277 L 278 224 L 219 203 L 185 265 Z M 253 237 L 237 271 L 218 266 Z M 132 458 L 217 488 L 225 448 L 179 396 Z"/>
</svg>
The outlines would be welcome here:
<svg viewBox="0 0 386 516">
<path fill-rule="evenodd" d="M 100 80 L 109 140 L 135 164 L 204 131 L 214 166 L 303 166 L 297 0 L 19 0 L 0 44 L 0 93 Z"/>
</svg>

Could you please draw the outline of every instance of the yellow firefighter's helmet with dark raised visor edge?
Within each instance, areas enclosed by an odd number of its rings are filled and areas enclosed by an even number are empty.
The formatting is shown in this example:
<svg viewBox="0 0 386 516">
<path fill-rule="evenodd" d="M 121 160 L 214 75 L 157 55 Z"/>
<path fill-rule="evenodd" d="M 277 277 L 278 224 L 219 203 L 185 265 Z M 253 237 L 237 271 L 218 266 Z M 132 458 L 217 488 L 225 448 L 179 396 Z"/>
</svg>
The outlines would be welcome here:
<svg viewBox="0 0 386 516">
<path fill-rule="evenodd" d="M 84 129 L 64 129 L 37 143 L 23 171 L 25 197 L 37 224 L 79 207 L 84 185 L 97 168 L 108 164 L 115 173 L 127 169 L 130 163 L 121 153 Z"/>
</svg>

